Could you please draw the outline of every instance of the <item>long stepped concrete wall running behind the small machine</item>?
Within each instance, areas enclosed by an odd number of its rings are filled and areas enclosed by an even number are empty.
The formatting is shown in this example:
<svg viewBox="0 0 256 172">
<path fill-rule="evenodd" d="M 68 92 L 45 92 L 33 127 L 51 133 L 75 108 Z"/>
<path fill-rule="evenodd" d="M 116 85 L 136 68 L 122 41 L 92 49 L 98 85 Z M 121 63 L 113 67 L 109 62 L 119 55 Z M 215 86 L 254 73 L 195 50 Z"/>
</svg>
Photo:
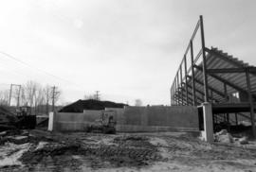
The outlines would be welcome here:
<svg viewBox="0 0 256 172">
<path fill-rule="evenodd" d="M 198 130 L 198 112 L 196 107 L 125 107 L 124 109 L 106 108 L 113 111 L 117 121 L 117 130 L 122 131 L 177 131 Z M 84 111 L 83 113 L 56 114 L 56 130 L 83 130 L 86 124 L 92 124 L 101 118 L 102 111 Z"/>
</svg>

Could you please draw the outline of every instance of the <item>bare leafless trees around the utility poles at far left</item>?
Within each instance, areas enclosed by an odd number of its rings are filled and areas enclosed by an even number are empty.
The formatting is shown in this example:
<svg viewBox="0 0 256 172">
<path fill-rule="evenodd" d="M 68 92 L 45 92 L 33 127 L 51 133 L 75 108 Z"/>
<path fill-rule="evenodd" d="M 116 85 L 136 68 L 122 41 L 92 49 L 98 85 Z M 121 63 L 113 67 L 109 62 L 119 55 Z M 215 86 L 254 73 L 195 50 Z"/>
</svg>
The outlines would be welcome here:
<svg viewBox="0 0 256 172">
<path fill-rule="evenodd" d="M 59 88 L 53 89 L 50 85 L 42 85 L 29 80 L 20 87 L 0 91 L 0 105 L 2 106 L 28 106 L 35 114 L 52 111 L 50 106 L 60 99 L 62 92 Z M 54 92 L 53 92 L 54 91 Z M 54 97 L 54 98 L 53 98 Z"/>
</svg>

